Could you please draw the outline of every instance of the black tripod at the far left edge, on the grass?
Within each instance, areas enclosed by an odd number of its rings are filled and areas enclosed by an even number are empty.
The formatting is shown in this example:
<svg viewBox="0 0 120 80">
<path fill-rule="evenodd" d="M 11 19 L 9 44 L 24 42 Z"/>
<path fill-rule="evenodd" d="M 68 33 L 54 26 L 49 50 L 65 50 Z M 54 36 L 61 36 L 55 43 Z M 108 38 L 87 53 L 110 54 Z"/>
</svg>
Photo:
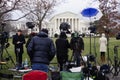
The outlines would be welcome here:
<svg viewBox="0 0 120 80">
<path fill-rule="evenodd" d="M 15 62 L 14 60 L 12 59 L 11 55 L 9 54 L 9 52 L 7 51 L 7 47 L 8 47 L 9 43 L 6 43 L 5 45 L 1 45 L 1 49 L 0 49 L 0 56 L 1 56 L 1 61 L 4 61 L 3 59 L 3 53 L 4 53 L 4 50 L 7 54 L 7 58 L 5 59 L 5 61 L 9 61 L 9 59 L 11 60 L 12 64 L 15 66 Z M 2 67 L 2 66 L 1 66 Z"/>
</svg>

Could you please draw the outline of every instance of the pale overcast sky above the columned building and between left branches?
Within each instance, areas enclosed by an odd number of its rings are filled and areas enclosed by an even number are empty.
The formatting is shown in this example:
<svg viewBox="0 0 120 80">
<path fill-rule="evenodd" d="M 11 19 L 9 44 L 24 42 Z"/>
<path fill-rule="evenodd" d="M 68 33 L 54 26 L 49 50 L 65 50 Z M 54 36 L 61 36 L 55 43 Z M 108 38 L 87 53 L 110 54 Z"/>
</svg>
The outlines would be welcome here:
<svg viewBox="0 0 120 80">
<path fill-rule="evenodd" d="M 66 11 L 81 14 L 81 11 L 88 7 L 98 8 L 99 2 L 97 0 L 65 0 L 54 8 L 53 16 Z M 15 12 L 14 18 L 21 16 L 19 13 Z M 82 15 L 80 15 L 80 17 L 82 17 Z"/>
</svg>

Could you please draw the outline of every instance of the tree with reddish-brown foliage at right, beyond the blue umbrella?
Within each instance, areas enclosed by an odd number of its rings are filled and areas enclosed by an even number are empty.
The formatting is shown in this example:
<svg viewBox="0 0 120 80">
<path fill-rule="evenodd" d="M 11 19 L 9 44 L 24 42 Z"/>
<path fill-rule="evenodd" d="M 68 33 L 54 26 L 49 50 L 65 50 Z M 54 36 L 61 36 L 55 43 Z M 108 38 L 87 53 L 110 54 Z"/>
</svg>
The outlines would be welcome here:
<svg viewBox="0 0 120 80">
<path fill-rule="evenodd" d="M 107 28 L 115 28 L 119 24 L 119 0 L 99 0 L 100 10 L 103 13 L 102 18 L 99 21 L 100 26 L 106 26 Z"/>
</svg>

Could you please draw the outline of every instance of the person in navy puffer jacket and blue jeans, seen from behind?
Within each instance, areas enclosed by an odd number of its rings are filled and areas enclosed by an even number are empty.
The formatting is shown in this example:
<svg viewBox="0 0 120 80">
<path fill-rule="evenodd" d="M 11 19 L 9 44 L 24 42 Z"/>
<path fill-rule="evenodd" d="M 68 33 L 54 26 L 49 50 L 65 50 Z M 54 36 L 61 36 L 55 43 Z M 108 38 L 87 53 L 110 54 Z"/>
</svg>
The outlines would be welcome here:
<svg viewBox="0 0 120 80">
<path fill-rule="evenodd" d="M 53 41 L 48 38 L 48 30 L 42 29 L 33 37 L 27 47 L 29 55 L 32 56 L 32 69 L 48 72 L 48 65 L 55 55 Z"/>
</svg>

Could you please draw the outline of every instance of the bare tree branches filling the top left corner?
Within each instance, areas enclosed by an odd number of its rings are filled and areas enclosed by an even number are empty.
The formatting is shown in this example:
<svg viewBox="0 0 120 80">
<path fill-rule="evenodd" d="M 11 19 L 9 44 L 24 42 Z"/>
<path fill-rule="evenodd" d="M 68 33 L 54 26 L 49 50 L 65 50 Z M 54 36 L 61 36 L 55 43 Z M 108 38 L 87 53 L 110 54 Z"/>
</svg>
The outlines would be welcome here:
<svg viewBox="0 0 120 80">
<path fill-rule="evenodd" d="M 11 12 L 15 10 L 21 10 L 21 4 L 23 0 L 0 0 L 0 29 L 2 30 L 2 23 L 6 24 L 5 30 L 11 30 L 13 27 L 9 21 L 17 21 L 24 18 L 29 13 L 24 14 L 22 17 L 12 19 Z M 14 16 L 14 15 L 13 15 Z"/>
</svg>

